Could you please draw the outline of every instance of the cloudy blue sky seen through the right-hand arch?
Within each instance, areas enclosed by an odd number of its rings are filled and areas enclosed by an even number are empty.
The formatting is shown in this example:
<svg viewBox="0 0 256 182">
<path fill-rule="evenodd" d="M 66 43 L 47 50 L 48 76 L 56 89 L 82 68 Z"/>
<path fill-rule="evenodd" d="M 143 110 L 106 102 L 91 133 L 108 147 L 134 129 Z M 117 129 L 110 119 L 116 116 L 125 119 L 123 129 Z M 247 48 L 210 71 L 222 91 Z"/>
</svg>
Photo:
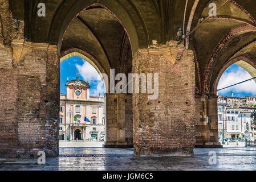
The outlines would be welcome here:
<svg viewBox="0 0 256 182">
<path fill-rule="evenodd" d="M 218 83 L 218 89 L 237 84 L 238 82 L 245 81 L 250 78 L 252 78 L 251 75 L 245 71 L 245 69 L 236 64 L 232 64 L 221 76 Z M 244 82 L 243 84 L 221 90 L 219 92 L 219 96 L 231 96 L 231 92 L 234 93 L 234 97 L 256 96 L 256 83 L 254 80 L 251 80 Z"/>
</svg>

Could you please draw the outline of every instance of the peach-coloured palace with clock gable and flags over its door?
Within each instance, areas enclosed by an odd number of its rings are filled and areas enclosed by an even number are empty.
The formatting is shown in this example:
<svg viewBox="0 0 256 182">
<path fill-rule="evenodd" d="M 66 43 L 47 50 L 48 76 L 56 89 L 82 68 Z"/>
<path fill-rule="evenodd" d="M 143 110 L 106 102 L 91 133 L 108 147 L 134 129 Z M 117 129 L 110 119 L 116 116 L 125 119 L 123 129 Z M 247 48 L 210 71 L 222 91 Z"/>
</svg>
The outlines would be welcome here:
<svg viewBox="0 0 256 182">
<path fill-rule="evenodd" d="M 60 95 L 60 140 L 95 140 L 105 135 L 104 97 L 90 97 L 90 85 L 68 81 L 67 94 Z"/>
</svg>

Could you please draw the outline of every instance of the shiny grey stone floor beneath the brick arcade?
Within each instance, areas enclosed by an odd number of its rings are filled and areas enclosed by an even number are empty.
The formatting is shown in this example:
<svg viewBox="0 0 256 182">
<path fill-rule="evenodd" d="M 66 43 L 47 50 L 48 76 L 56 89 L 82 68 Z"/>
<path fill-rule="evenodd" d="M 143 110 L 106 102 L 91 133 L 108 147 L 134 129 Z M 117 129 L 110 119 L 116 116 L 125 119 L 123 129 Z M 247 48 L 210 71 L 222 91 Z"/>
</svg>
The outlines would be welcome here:
<svg viewBox="0 0 256 182">
<path fill-rule="evenodd" d="M 214 152 L 216 164 L 209 156 Z M 195 148 L 194 156 L 183 158 L 139 158 L 132 148 L 60 148 L 59 153 L 46 159 L 46 165 L 35 159 L 0 158 L 0 170 L 256 170 L 256 147 Z"/>
</svg>

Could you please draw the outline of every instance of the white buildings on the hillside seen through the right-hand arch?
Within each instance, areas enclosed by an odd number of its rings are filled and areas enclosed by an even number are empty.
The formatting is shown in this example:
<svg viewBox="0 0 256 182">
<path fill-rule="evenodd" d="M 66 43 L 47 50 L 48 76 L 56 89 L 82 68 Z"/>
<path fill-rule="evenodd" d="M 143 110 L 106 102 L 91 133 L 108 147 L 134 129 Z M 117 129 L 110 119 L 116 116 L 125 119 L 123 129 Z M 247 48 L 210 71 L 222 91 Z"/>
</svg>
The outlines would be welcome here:
<svg viewBox="0 0 256 182">
<path fill-rule="evenodd" d="M 218 96 L 218 131 L 222 138 L 223 126 L 226 138 L 253 137 L 251 113 L 256 111 L 256 97 Z"/>
</svg>

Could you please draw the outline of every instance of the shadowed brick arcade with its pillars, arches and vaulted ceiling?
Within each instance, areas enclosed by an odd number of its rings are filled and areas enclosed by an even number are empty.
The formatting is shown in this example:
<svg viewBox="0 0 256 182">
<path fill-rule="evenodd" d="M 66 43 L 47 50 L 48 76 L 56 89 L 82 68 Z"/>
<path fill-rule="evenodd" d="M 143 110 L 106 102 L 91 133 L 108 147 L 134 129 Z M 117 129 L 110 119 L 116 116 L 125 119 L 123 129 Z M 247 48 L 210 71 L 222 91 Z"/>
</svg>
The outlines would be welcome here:
<svg viewBox="0 0 256 182">
<path fill-rule="evenodd" d="M 72 54 L 88 57 L 108 76 L 111 68 L 127 77 L 159 73 L 157 100 L 148 93 L 105 95 L 106 147 L 134 146 L 138 156 L 222 147 L 217 82 L 231 63 L 255 74 L 256 2 L 228 1 L 177 44 L 178 27 L 191 32 L 211 2 L 226 1 L 53 0 L 45 2 L 44 17 L 36 0 L 2 0 L 1 156 L 58 155 L 59 65 Z"/>
</svg>

